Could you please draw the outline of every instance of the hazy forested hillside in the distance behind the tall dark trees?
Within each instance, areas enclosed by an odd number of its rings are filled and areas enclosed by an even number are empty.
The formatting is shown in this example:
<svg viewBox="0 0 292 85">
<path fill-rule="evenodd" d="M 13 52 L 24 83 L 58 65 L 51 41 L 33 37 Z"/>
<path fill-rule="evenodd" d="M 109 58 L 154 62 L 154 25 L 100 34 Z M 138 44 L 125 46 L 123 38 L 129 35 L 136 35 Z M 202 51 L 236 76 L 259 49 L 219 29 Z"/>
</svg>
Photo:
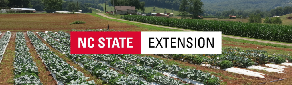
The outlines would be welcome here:
<svg viewBox="0 0 292 85">
<path fill-rule="evenodd" d="M 165 7 L 178 10 L 181 0 L 140 0 L 145 6 Z M 270 11 L 277 6 L 292 6 L 292 0 L 201 0 L 204 2 L 205 13 L 215 14 L 217 11 L 243 10 L 243 11 Z"/>
</svg>

